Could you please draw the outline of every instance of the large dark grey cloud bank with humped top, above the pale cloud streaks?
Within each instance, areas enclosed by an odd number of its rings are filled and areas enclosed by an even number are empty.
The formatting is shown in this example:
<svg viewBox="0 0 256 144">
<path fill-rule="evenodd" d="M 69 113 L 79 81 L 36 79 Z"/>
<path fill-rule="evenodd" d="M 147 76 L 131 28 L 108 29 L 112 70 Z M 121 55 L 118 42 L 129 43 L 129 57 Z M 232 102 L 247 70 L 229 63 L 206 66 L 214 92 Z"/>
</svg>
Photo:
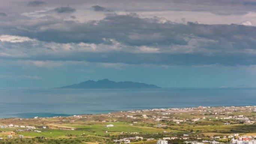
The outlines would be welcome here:
<svg viewBox="0 0 256 144">
<path fill-rule="evenodd" d="M 228 46 L 255 49 L 256 27 L 157 21 L 158 19 L 139 18 L 132 14 L 109 15 L 103 20 L 86 23 L 64 21 L 59 24 L 61 27 L 54 26 L 58 22 L 44 22 L 43 25 L 30 26 L 30 31 L 15 30 L 12 27 L 12 31 L 6 33 L 57 43 L 104 43 L 104 38 L 115 39 L 129 46 L 188 45 L 187 39 L 195 37 L 216 41 L 214 45 L 211 43 L 210 46 L 205 46 L 211 49 L 225 49 Z M 44 30 L 38 31 L 41 27 Z"/>
</svg>

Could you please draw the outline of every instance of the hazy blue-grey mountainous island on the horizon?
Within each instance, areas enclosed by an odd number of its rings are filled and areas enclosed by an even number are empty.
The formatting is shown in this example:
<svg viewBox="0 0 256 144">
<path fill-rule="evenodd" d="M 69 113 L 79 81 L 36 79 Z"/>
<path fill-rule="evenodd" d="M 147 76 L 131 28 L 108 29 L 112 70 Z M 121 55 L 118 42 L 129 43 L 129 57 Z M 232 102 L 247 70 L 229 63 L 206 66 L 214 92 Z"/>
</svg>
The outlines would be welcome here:
<svg viewBox="0 0 256 144">
<path fill-rule="evenodd" d="M 148 85 L 138 82 L 114 82 L 108 79 L 103 80 L 88 80 L 69 86 L 63 86 L 59 89 L 158 89 L 156 85 Z"/>
</svg>

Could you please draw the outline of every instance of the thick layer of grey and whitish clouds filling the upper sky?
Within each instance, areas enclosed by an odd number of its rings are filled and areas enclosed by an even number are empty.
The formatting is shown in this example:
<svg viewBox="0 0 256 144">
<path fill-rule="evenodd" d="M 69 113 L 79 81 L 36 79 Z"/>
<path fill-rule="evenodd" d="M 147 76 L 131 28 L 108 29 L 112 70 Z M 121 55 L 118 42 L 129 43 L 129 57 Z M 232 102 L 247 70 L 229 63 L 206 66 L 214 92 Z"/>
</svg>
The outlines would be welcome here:
<svg viewBox="0 0 256 144">
<path fill-rule="evenodd" d="M 28 7 L 26 12 L 6 9 L 10 15 L 5 11 L 0 13 L 0 58 L 159 65 L 256 64 L 256 27 L 251 21 L 201 24 L 185 18 L 171 21 L 154 16 L 170 11 L 248 15 L 255 8 L 254 1 L 98 3 L 88 1 L 85 6 L 75 0 L 69 6 L 65 0 L 61 4 L 55 0 L 30 1 L 24 3 Z M 114 8 L 113 3 L 119 3 L 120 7 Z M 6 7 L 9 5 L 13 4 L 6 3 Z M 121 11 L 124 6 L 127 9 Z M 239 9 L 234 11 L 231 7 Z M 83 18 L 89 20 L 83 21 Z"/>
</svg>

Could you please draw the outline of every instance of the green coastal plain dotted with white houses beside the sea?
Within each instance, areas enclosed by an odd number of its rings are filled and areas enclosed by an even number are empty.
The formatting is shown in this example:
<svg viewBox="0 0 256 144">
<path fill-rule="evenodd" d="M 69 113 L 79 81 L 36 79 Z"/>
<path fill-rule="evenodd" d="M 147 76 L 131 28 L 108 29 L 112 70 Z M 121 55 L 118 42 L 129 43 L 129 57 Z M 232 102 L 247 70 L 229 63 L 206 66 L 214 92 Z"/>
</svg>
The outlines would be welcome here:
<svg viewBox="0 0 256 144">
<path fill-rule="evenodd" d="M 0 119 L 0 143 L 12 139 L 90 137 L 100 138 L 97 143 L 115 144 L 256 144 L 255 123 L 256 106 L 9 118 Z"/>
</svg>

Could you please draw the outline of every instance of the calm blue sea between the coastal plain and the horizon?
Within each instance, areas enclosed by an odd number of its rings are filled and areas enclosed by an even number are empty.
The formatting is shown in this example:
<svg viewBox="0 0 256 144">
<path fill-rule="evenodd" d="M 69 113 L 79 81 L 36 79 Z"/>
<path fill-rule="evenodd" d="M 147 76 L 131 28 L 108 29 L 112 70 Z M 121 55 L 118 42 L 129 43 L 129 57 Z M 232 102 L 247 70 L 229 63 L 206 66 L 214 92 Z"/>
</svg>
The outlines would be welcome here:
<svg viewBox="0 0 256 144">
<path fill-rule="evenodd" d="M 256 105 L 256 89 L 0 89 L 1 118 L 69 116 L 200 105 Z"/>
</svg>

